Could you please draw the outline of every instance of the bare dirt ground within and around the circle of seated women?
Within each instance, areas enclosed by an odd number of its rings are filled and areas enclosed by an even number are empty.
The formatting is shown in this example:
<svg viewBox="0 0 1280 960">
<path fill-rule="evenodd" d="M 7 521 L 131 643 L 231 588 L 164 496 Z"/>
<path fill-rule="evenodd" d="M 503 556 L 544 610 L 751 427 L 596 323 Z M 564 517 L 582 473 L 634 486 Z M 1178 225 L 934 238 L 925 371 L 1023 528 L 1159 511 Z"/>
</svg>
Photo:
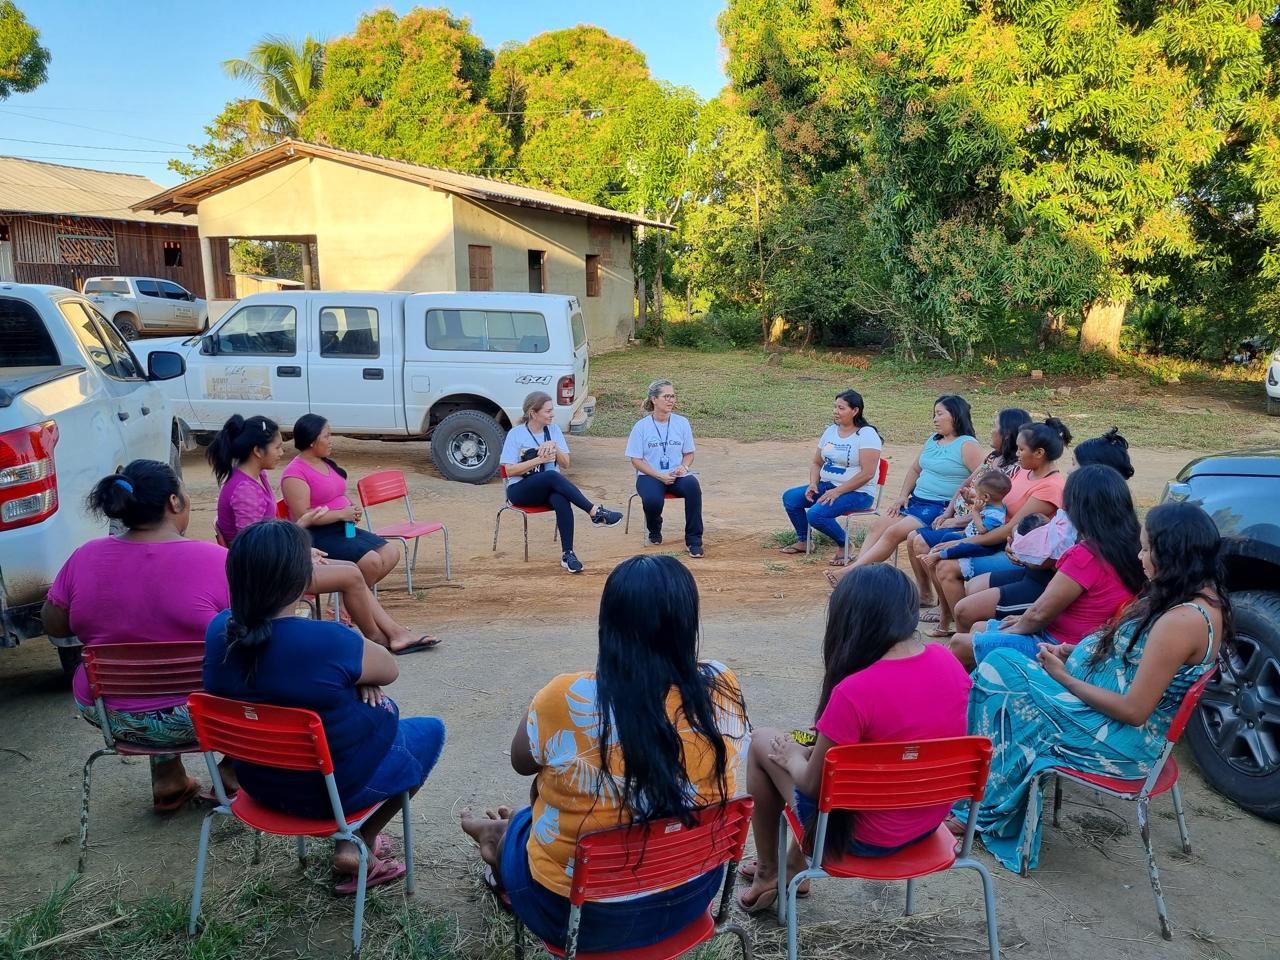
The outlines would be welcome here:
<svg viewBox="0 0 1280 960">
<path fill-rule="evenodd" d="M 622 442 L 572 442 L 571 475 L 588 497 L 626 507 L 630 471 Z M 897 489 L 914 451 L 888 447 L 888 490 Z M 381 596 L 393 616 L 444 637 L 440 649 L 401 660 L 390 689 L 406 714 L 440 716 L 449 741 L 439 767 L 415 800 L 417 899 L 431 909 L 458 911 L 479 923 L 468 879 L 474 855 L 457 828 L 468 805 L 518 803 L 526 783 L 509 768 L 507 746 L 536 689 L 562 671 L 594 663 L 599 593 L 618 561 L 641 550 L 639 502 L 630 534 L 579 524 L 577 553 L 586 571 L 567 576 L 552 544 L 549 516 L 530 518 L 530 562 L 522 562 L 520 517 L 503 518 L 498 552 L 497 483 L 467 486 L 443 480 L 426 444 L 339 440 L 338 460 L 355 476 L 383 467 L 410 479 L 419 518 L 449 526 L 453 580 L 444 581 L 440 538 L 424 541 L 416 586 L 403 590 L 397 573 Z M 698 470 L 707 492 L 707 557 L 690 561 L 703 598 L 703 653 L 727 662 L 742 681 L 756 724 L 795 727 L 812 716 L 820 678 L 820 634 L 827 586 L 824 558 L 782 557 L 765 547 L 786 529 L 781 490 L 805 476 L 806 443 L 705 440 Z M 1187 462 L 1185 451 L 1134 451 L 1133 481 L 1140 506 Z M 196 503 L 189 535 L 212 536 L 215 488 L 198 454 L 184 460 Z M 669 503 L 668 547 L 680 545 L 681 506 Z M 677 554 L 682 556 L 682 554 Z M 73 714 L 58 660 L 44 640 L 0 652 L 0 916 L 42 897 L 76 867 L 79 777 L 83 759 L 100 741 Z M 1165 896 L 1175 925 L 1172 943 L 1158 937 L 1134 810 L 1068 788 L 1064 824 L 1046 828 L 1042 865 L 1021 879 L 979 854 L 996 876 L 1001 943 L 1006 956 L 1028 960 L 1084 957 L 1275 957 L 1280 919 L 1271 886 L 1280 868 L 1280 827 L 1245 814 L 1211 792 L 1189 755 L 1183 759 L 1194 854 L 1183 856 L 1167 797 L 1153 805 L 1153 833 Z M 188 760 L 193 772 L 196 762 Z M 186 892 L 201 812 L 169 819 L 148 808 L 142 764 L 101 760 L 95 773 L 91 878 L 114 878 L 124 897 L 173 884 Z M 393 824 L 394 826 L 394 824 Z M 212 863 L 232 870 L 227 863 Z M 984 950 L 980 895 L 969 873 L 929 878 L 922 910 L 963 910 L 963 936 L 954 956 Z M 818 886 L 803 919 L 850 918 L 897 904 L 901 891 L 878 884 Z M 338 908 L 334 908 L 337 911 Z M 346 916 L 347 914 L 342 914 Z M 320 951 L 323 952 L 323 951 Z M 858 954 L 861 955 L 861 954 Z M 905 954 L 916 956 L 908 950 Z M 934 954 L 937 955 L 937 954 Z"/>
</svg>

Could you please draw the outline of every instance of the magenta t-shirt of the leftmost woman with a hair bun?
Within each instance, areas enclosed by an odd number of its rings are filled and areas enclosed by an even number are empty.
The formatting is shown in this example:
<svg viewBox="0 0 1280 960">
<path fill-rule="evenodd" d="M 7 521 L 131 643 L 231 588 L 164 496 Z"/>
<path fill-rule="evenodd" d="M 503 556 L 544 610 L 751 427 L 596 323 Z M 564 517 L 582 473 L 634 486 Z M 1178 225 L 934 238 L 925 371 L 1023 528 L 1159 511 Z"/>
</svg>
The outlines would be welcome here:
<svg viewBox="0 0 1280 960">
<path fill-rule="evenodd" d="M 104 536 L 78 548 L 49 589 L 50 603 L 70 614 L 84 646 L 205 639 L 210 621 L 230 607 L 227 550 L 202 540 L 138 543 Z M 83 664 L 72 692 L 92 704 Z M 141 713 L 186 703 L 186 696 L 109 696 L 114 710 Z"/>
</svg>

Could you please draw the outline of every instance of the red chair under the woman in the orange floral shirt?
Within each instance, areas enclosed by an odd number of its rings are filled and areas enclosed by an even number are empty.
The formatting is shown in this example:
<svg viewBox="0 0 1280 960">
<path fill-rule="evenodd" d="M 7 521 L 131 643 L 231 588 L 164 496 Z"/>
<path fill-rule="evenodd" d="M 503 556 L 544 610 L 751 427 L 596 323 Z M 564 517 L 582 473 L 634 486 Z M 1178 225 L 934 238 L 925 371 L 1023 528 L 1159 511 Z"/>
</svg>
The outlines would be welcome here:
<svg viewBox="0 0 1280 960">
<path fill-rule="evenodd" d="M 746 835 L 751 829 L 749 796 L 740 796 L 723 805 L 695 810 L 696 823 L 686 827 L 678 819 L 630 823 L 623 827 L 584 833 L 573 850 L 573 886 L 570 888 L 568 929 L 564 947 L 541 941 L 552 956 L 566 960 L 675 960 L 694 947 L 724 933 L 732 933 L 742 945 L 744 960 L 751 960 L 751 937 L 737 923 L 727 922 L 737 861 L 742 859 Z M 641 855 L 641 851 L 643 855 Z M 595 900 L 657 893 L 687 883 L 704 873 L 728 864 L 719 904 L 708 905 L 707 913 L 648 947 L 614 952 L 582 954 L 577 950 L 577 929 L 582 905 Z M 515 922 L 515 952 L 525 956 L 524 924 Z"/>
</svg>

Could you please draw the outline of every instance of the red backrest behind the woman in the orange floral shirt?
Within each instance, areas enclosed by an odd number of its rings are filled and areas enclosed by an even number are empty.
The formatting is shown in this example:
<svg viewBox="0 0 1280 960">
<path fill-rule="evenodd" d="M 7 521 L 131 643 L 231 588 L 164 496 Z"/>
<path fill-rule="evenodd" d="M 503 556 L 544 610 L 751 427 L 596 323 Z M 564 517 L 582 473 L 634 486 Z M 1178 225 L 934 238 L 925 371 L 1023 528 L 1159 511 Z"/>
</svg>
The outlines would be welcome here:
<svg viewBox="0 0 1280 960">
<path fill-rule="evenodd" d="M 753 806 L 751 797 L 740 796 L 695 810 L 691 827 L 664 819 L 582 835 L 573 852 L 570 902 L 667 890 L 740 860 Z"/>
</svg>

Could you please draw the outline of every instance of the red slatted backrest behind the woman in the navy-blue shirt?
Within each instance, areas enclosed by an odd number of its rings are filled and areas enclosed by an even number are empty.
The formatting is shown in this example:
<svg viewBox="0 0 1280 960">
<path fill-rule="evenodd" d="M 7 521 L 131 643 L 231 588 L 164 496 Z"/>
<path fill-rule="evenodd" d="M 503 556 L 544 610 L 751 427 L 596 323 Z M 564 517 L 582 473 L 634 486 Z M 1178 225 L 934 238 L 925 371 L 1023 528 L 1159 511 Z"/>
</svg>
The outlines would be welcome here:
<svg viewBox="0 0 1280 960">
<path fill-rule="evenodd" d="M 315 710 L 192 694 L 187 701 L 204 751 L 285 771 L 333 773 L 329 740 Z"/>
</svg>

